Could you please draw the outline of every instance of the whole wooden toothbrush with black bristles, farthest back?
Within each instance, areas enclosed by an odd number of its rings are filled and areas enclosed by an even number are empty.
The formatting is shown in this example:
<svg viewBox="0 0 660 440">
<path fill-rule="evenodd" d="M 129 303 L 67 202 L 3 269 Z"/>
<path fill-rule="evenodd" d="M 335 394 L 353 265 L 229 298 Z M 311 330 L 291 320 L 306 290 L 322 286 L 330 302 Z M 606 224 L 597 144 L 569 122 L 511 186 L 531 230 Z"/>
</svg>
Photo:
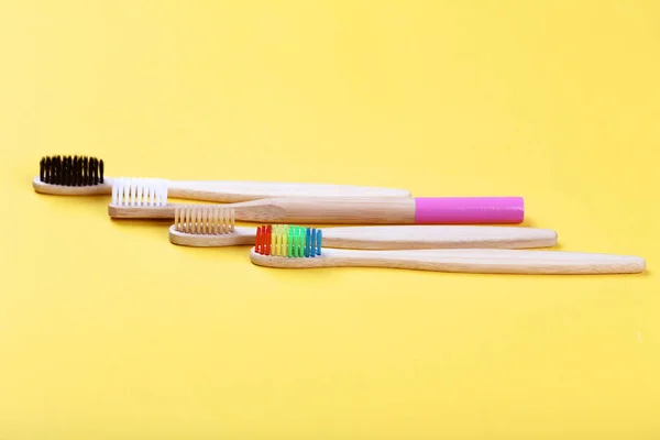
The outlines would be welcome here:
<svg viewBox="0 0 660 440">
<path fill-rule="evenodd" d="M 103 161 L 89 156 L 48 156 L 40 162 L 35 191 L 58 196 L 110 195 L 113 177 L 105 177 Z M 268 197 L 410 197 L 397 188 L 351 185 L 294 184 L 234 180 L 163 180 L 172 197 L 218 202 L 257 200 Z"/>
</svg>

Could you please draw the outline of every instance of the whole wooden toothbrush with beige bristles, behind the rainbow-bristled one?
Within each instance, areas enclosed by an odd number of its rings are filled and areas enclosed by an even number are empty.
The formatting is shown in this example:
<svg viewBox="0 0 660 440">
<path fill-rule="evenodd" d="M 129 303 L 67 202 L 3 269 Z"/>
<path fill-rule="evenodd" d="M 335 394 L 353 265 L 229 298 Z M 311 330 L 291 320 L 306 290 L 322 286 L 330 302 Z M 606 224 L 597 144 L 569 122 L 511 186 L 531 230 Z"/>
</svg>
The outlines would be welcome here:
<svg viewBox="0 0 660 440">
<path fill-rule="evenodd" d="M 275 234 L 297 226 L 235 226 L 233 208 L 191 205 L 177 207 L 169 241 L 194 248 L 254 244 L 257 234 Z M 288 229 L 287 229 L 288 231 Z M 550 229 L 463 226 L 344 227 L 323 230 L 324 244 L 346 249 L 458 249 L 458 248 L 550 248 L 557 232 Z"/>
</svg>

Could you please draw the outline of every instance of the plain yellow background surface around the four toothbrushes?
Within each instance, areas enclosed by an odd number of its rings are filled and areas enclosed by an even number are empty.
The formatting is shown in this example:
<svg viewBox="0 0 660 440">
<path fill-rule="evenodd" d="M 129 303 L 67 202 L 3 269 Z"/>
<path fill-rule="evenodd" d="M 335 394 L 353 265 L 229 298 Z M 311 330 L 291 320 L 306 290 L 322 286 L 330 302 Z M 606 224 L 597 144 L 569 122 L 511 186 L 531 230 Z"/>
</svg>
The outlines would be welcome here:
<svg viewBox="0 0 660 440">
<path fill-rule="evenodd" d="M 0 438 L 659 438 L 660 2 L 0 2 Z M 521 195 L 639 276 L 286 272 L 110 176 Z"/>
</svg>

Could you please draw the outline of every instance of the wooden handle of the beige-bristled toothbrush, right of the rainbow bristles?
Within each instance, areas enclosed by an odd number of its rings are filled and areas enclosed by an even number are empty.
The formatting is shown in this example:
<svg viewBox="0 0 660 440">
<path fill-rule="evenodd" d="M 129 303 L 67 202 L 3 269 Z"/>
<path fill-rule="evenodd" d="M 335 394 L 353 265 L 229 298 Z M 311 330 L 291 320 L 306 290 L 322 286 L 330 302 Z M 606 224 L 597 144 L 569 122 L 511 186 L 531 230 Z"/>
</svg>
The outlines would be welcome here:
<svg viewBox="0 0 660 440">
<path fill-rule="evenodd" d="M 323 243 L 346 249 L 521 249 L 557 244 L 551 229 L 463 226 L 324 228 Z"/>
</svg>

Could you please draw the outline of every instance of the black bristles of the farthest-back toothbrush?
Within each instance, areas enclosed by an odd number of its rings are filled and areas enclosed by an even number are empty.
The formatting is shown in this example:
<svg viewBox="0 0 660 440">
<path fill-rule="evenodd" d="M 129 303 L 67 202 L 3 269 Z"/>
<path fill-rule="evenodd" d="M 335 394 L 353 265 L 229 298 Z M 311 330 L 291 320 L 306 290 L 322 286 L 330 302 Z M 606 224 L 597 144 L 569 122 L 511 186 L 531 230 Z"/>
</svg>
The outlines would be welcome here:
<svg viewBox="0 0 660 440">
<path fill-rule="evenodd" d="M 103 183 L 103 161 L 88 156 L 46 156 L 38 163 L 38 179 L 59 186 L 92 186 Z"/>
</svg>

